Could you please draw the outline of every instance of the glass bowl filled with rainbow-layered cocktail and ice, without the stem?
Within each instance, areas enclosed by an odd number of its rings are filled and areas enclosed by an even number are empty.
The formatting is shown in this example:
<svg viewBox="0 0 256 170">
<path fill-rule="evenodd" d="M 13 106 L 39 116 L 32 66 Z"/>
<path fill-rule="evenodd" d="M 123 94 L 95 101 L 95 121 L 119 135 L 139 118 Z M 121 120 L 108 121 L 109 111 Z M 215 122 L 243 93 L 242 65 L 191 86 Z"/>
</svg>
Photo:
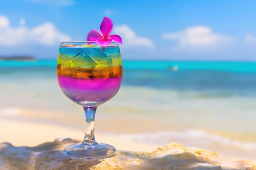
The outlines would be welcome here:
<svg viewBox="0 0 256 170">
<path fill-rule="evenodd" d="M 119 46 L 63 42 L 57 61 L 58 83 L 63 93 L 82 106 L 99 106 L 111 99 L 123 75 Z"/>
</svg>

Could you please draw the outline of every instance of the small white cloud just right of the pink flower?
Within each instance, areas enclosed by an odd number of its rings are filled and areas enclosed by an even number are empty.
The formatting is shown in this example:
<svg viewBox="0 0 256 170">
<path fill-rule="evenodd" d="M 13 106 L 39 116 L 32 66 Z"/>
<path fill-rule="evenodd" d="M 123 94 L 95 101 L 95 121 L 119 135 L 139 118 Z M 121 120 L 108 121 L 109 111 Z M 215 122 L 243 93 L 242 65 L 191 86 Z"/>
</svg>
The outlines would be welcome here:
<svg viewBox="0 0 256 170">
<path fill-rule="evenodd" d="M 123 41 L 123 46 L 125 47 L 147 47 L 150 49 L 155 48 L 155 44 L 151 40 L 145 37 L 139 37 L 136 35 L 135 31 L 130 29 L 127 25 L 114 26 L 113 32 L 120 35 Z"/>
</svg>

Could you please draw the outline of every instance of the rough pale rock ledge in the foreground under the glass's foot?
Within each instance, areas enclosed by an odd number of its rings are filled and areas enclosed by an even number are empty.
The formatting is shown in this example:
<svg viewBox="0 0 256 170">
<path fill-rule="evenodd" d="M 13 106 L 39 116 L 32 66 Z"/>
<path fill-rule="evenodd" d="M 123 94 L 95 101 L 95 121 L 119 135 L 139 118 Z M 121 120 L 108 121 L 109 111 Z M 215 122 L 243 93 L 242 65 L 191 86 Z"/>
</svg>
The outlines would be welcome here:
<svg viewBox="0 0 256 170">
<path fill-rule="evenodd" d="M 67 158 L 62 150 L 77 143 L 56 139 L 35 147 L 0 144 L 0 170 L 256 170 L 256 161 L 220 159 L 214 152 L 186 148 L 170 143 L 155 151 L 117 151 L 114 157 L 100 161 L 77 161 Z"/>
</svg>

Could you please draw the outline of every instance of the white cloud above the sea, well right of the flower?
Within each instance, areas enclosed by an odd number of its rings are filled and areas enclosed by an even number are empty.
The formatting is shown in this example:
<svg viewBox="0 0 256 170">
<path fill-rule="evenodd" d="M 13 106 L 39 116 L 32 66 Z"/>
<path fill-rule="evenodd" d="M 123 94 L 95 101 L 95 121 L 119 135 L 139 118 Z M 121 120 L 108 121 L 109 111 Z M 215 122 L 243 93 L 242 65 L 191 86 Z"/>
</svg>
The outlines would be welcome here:
<svg viewBox="0 0 256 170">
<path fill-rule="evenodd" d="M 214 33 L 207 26 L 192 26 L 176 33 L 164 33 L 162 38 L 168 40 L 177 40 L 178 46 L 175 50 L 205 50 L 215 49 L 222 42 L 227 42 L 229 37 Z"/>
</svg>

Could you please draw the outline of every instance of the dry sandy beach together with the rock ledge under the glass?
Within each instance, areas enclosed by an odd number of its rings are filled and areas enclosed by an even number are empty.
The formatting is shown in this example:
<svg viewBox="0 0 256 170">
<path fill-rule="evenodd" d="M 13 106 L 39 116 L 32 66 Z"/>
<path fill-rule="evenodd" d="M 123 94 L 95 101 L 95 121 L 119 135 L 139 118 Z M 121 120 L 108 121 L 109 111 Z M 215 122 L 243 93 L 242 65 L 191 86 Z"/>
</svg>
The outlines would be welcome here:
<svg viewBox="0 0 256 170">
<path fill-rule="evenodd" d="M 82 134 L 83 130 L 77 128 L 1 117 L 0 170 L 256 169 L 256 160 L 223 158 L 216 152 L 195 147 L 186 148 L 178 143 L 159 147 L 103 133 L 97 133 L 97 141 L 115 146 L 117 152 L 114 157 L 101 161 L 77 161 L 65 157 L 62 149 L 81 141 L 79 138 Z"/>
</svg>

